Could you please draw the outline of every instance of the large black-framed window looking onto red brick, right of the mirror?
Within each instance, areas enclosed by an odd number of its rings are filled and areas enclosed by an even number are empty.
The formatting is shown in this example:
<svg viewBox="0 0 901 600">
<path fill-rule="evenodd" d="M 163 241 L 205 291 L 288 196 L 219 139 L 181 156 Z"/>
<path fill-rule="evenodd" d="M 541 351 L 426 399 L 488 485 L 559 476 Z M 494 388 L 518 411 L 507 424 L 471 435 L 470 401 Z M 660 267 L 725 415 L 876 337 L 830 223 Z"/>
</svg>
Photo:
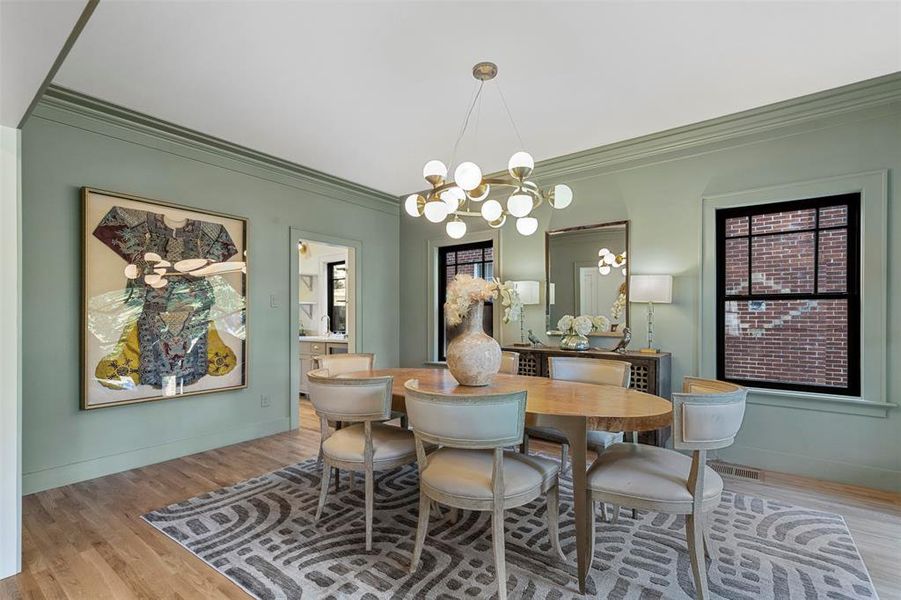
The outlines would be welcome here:
<svg viewBox="0 0 901 600">
<path fill-rule="evenodd" d="M 716 211 L 717 377 L 860 394 L 860 194 Z"/>
</svg>

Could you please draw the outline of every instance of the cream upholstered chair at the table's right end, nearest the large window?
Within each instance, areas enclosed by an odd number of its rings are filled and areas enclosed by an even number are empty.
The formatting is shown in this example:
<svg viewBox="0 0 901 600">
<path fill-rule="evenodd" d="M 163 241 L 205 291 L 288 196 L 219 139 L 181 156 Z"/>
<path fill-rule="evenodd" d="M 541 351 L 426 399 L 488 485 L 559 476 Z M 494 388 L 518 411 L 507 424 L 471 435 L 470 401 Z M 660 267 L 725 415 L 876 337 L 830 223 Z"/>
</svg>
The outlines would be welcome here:
<svg viewBox="0 0 901 600">
<path fill-rule="evenodd" d="M 709 379 L 686 377 L 673 394 L 673 448 L 618 443 L 588 470 L 591 502 L 608 502 L 685 515 L 685 537 L 695 597 L 708 598 L 704 517 L 720 503 L 723 480 L 706 465 L 707 451 L 732 445 L 741 428 L 748 391 Z M 691 450 L 688 457 L 676 450 Z M 594 511 L 592 511 L 594 514 Z M 594 525 L 591 535 L 594 556 Z"/>
</svg>

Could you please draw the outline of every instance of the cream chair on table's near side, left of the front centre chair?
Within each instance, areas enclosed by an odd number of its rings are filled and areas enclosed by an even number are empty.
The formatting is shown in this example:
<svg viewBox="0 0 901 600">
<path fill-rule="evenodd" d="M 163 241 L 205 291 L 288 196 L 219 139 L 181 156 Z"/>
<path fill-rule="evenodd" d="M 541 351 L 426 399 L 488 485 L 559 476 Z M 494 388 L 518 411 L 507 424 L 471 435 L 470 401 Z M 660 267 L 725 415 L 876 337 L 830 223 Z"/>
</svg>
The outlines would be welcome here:
<svg viewBox="0 0 901 600">
<path fill-rule="evenodd" d="M 326 369 L 310 371 L 310 402 L 319 416 L 322 481 L 316 522 L 328 497 L 332 469 L 364 474 L 366 550 L 372 549 L 372 513 L 375 471 L 385 471 L 416 460 L 413 434 L 385 425 L 391 418 L 392 377 L 335 378 Z M 332 432 L 329 421 L 349 423 Z"/>
</svg>

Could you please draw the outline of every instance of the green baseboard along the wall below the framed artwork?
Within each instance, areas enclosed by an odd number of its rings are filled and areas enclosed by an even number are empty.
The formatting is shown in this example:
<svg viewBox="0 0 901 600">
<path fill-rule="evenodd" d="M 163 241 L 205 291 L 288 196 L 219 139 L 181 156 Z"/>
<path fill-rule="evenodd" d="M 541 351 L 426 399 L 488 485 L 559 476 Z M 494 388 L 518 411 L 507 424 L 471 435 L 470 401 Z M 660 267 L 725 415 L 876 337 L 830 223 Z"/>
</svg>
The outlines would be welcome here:
<svg viewBox="0 0 901 600">
<path fill-rule="evenodd" d="M 42 492 L 62 485 L 103 477 L 111 473 L 136 469 L 213 448 L 221 448 L 222 446 L 230 446 L 239 442 L 281 433 L 288 431 L 289 425 L 290 419 L 282 417 L 226 431 L 215 431 L 205 435 L 172 440 L 154 446 L 136 448 L 128 452 L 25 473 L 22 476 L 22 494 L 34 494 L 35 492 Z"/>
</svg>

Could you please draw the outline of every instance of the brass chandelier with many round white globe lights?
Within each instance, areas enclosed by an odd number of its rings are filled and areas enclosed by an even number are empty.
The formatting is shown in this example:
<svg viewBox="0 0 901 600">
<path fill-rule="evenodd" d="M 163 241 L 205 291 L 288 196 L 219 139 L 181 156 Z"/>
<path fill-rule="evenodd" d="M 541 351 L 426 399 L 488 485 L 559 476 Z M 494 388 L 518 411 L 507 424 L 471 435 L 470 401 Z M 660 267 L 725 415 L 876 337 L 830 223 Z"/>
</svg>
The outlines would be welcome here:
<svg viewBox="0 0 901 600">
<path fill-rule="evenodd" d="M 473 109 L 480 106 L 485 82 L 497 76 L 497 65 L 480 62 L 472 68 L 472 76 L 478 80 L 479 86 L 454 143 L 451 166 L 455 164 L 457 148 L 466 135 Z M 523 148 L 525 145 L 500 86 L 497 86 L 497 90 L 520 147 Z M 520 234 L 532 235 L 538 230 L 538 219 L 532 215 L 532 211 L 545 202 L 556 209 L 566 208 L 573 198 L 572 189 L 568 185 L 561 183 L 542 188 L 531 181 L 529 176 L 534 168 L 532 156 L 519 150 L 507 161 L 506 173 L 483 176 L 477 164 L 461 161 L 456 164 L 453 180 L 449 181 L 447 166 L 440 160 L 430 160 L 423 167 L 422 176 L 432 189 L 407 196 L 404 209 L 410 216 L 425 216 L 432 223 L 446 221 L 447 235 L 454 239 L 466 235 L 466 218 L 484 219 L 490 227 L 498 229 L 504 226 L 509 216 L 516 219 L 516 230 Z"/>
</svg>

